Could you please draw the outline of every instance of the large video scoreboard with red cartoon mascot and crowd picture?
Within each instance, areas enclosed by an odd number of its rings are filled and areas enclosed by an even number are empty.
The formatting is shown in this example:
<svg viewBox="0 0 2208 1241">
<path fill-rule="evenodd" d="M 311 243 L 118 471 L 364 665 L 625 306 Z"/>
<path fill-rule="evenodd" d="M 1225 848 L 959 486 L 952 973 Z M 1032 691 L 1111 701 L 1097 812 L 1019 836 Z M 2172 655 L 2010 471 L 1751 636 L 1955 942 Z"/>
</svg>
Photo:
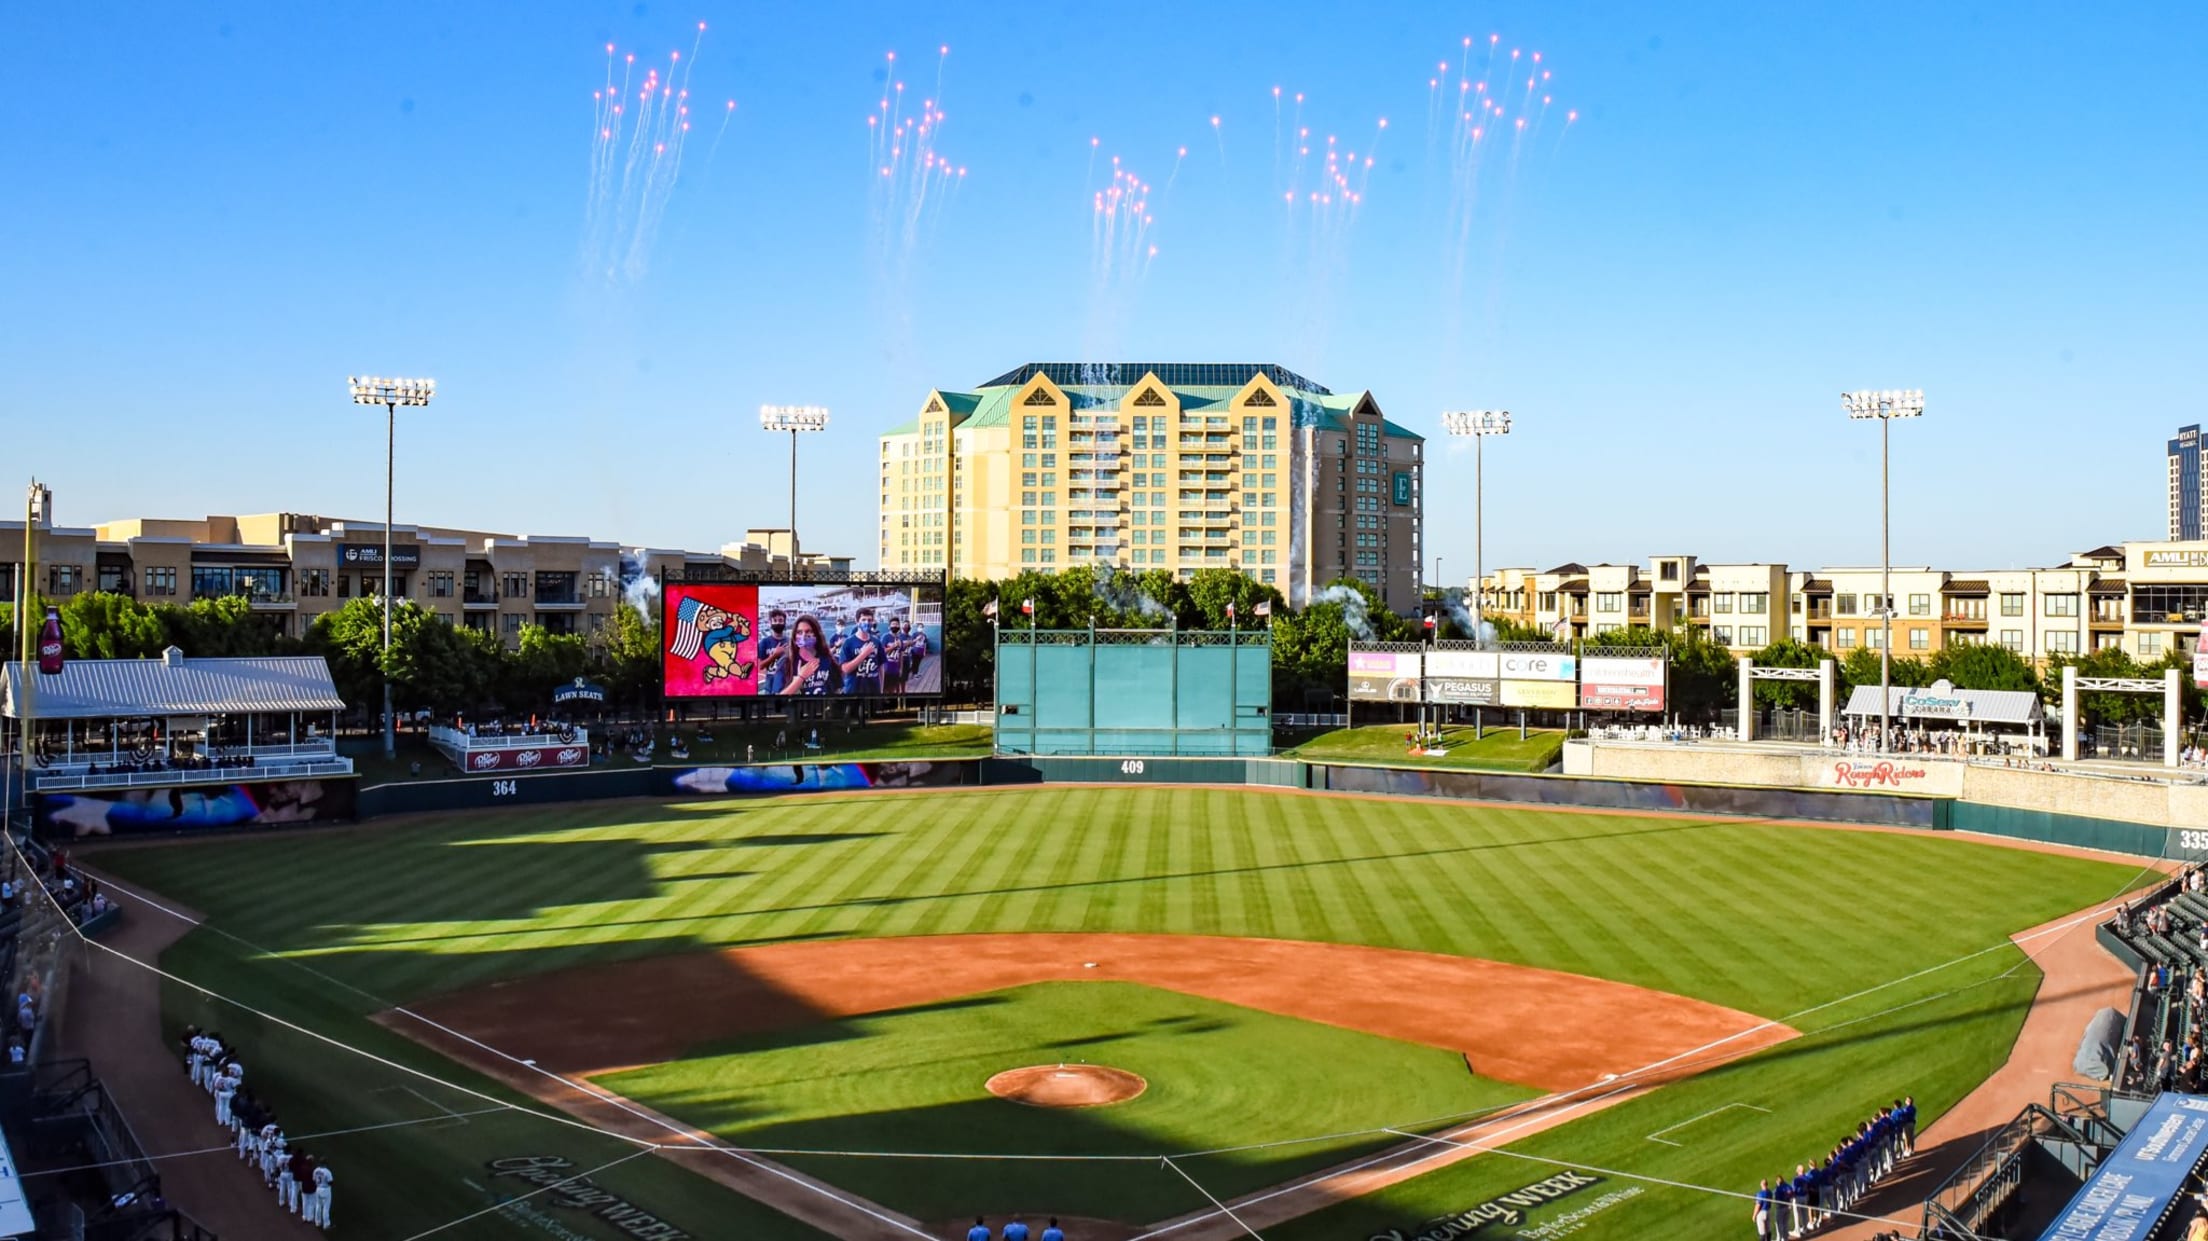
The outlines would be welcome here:
<svg viewBox="0 0 2208 1241">
<path fill-rule="evenodd" d="M 932 698 L 943 693 L 934 583 L 669 583 L 667 698 Z"/>
</svg>

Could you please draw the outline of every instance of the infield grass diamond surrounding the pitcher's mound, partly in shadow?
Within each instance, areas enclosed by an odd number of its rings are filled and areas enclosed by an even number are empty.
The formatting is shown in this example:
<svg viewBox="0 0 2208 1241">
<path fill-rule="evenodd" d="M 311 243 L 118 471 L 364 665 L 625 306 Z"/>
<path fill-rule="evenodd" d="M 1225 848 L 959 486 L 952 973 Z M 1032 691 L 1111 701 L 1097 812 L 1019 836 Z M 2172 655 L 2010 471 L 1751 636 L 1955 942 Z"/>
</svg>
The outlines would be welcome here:
<svg viewBox="0 0 2208 1241">
<path fill-rule="evenodd" d="M 991 1097 L 991 1073 L 1069 1060 L 1139 1073 L 1106 1109 Z M 1393 1139 L 1371 1131 L 1468 1113 L 1537 1091 L 1475 1078 L 1464 1058 L 1354 1029 L 1135 983 L 1036 983 L 698 1049 L 601 1084 L 742 1146 L 1153 1155 L 1248 1144 L 1263 1133 L 1358 1133 L 1241 1153 L 1206 1186 L 1236 1195 Z M 1325 1082 L 1325 1089 L 1312 1089 Z M 806 1159 L 793 1166 L 919 1219 L 1011 1210 L 1144 1223 L 1203 1206 L 1188 1181 L 1139 1162 Z"/>
</svg>

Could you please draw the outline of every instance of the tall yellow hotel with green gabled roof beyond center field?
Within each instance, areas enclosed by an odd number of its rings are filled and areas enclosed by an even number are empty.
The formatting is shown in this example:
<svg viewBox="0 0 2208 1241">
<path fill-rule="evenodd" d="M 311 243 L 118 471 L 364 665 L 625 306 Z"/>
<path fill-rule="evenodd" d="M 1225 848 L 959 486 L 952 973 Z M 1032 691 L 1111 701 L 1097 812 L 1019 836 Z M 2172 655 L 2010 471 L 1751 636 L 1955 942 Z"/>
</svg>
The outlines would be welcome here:
<svg viewBox="0 0 2208 1241">
<path fill-rule="evenodd" d="M 1029 362 L 881 435 L 881 568 L 1239 570 L 1418 603 L 1424 437 L 1274 364 Z"/>
</svg>

